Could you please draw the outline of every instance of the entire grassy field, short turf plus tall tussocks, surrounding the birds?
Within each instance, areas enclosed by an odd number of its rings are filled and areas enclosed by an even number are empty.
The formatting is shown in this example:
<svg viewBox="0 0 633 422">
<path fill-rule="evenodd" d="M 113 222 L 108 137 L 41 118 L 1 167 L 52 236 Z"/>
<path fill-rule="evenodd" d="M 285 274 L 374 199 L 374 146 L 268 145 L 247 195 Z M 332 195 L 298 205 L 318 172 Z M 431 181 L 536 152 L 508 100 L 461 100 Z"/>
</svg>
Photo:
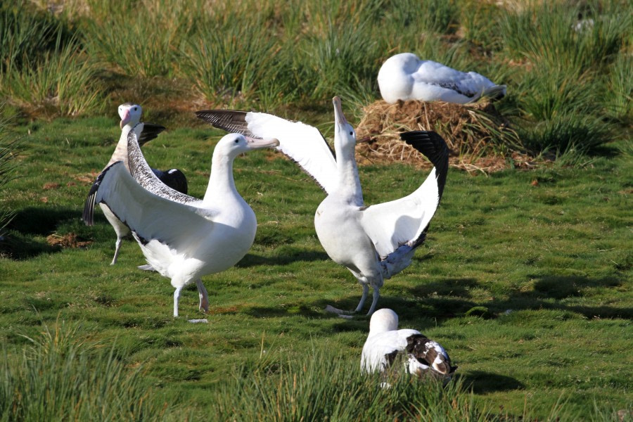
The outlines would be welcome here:
<svg viewBox="0 0 633 422">
<path fill-rule="evenodd" d="M 134 6 L 134 24 L 110 30 Z M 0 228 L 13 215 L 0 240 L 0 421 L 633 419 L 631 4 L 216 6 L 0 5 Z M 575 31 L 578 13 L 594 25 Z M 330 98 L 357 123 L 396 51 L 508 84 L 497 109 L 525 151 L 554 159 L 450 170 L 426 245 L 381 289 L 378 307 L 447 348 L 459 366 L 447 388 L 381 390 L 359 375 L 369 319 L 323 309 L 354 308 L 361 288 L 316 238 L 324 193 L 279 153 L 236 160 L 257 237 L 236 267 L 205 277 L 207 316 L 188 288 L 172 318 L 173 288 L 136 269 L 136 243 L 111 267 L 112 228 L 101 213 L 82 223 L 120 135 L 118 103 L 167 126 L 146 158 L 183 170 L 200 197 L 222 134 L 194 110 L 268 110 L 330 135 Z M 359 171 L 367 204 L 428 172 Z"/>
</svg>

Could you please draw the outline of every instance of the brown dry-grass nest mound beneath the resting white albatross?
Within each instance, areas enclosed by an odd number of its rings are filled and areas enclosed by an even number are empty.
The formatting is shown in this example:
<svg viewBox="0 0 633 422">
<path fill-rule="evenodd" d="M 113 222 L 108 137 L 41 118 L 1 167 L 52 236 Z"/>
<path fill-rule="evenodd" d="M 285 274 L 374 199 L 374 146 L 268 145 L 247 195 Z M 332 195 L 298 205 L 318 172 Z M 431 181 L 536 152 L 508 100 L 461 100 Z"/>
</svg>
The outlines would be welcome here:
<svg viewBox="0 0 633 422">
<path fill-rule="evenodd" d="M 433 130 L 446 141 L 449 162 L 468 171 L 494 172 L 506 167 L 531 167 L 516 132 L 490 101 L 454 104 L 436 101 L 376 101 L 366 106 L 356 132 L 359 164 L 408 162 L 428 167 L 430 162 L 399 134 Z"/>
</svg>

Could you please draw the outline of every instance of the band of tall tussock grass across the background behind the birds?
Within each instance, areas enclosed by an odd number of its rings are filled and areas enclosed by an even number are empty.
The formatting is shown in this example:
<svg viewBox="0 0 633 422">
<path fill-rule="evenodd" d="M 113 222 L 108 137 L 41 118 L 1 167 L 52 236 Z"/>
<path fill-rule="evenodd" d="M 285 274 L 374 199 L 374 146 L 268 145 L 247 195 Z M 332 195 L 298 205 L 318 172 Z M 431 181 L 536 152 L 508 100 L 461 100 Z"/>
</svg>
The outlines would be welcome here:
<svg viewBox="0 0 633 422">
<path fill-rule="evenodd" d="M 163 114 L 199 103 L 305 118 L 298 110 L 323 113 L 321 104 L 334 95 L 361 110 L 379 98 L 381 63 L 412 51 L 506 84 L 497 107 L 519 134 L 522 153 L 582 162 L 632 121 L 627 1 L 49 6 L 0 6 L 0 93 L 23 115 L 96 115 L 133 100 L 154 102 Z M 576 29 L 579 14 L 592 24 Z"/>
</svg>

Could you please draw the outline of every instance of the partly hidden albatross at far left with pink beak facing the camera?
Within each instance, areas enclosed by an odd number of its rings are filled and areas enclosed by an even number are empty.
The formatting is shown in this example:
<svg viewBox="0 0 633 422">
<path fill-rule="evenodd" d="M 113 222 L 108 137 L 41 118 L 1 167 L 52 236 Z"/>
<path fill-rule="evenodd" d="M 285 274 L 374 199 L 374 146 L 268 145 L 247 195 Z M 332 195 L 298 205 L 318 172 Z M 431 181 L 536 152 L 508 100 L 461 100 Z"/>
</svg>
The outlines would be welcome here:
<svg viewBox="0 0 633 422">
<path fill-rule="evenodd" d="M 106 167 L 103 167 L 103 170 L 106 170 L 108 167 L 110 167 L 110 165 L 113 165 L 117 161 L 122 161 L 124 167 L 127 169 L 127 171 L 129 171 L 129 165 L 127 164 L 127 134 L 129 134 L 129 131 L 132 130 L 132 128 L 141 121 L 143 108 L 141 108 L 141 106 L 139 106 L 138 104 L 123 103 L 119 106 L 118 111 L 119 116 L 121 117 L 121 122 L 119 124 L 119 126 L 121 127 L 121 136 L 119 138 L 115 151 L 110 158 L 110 161 L 108 161 Z M 143 144 L 154 139 L 163 130 L 165 130 L 165 127 L 162 127 L 159 124 L 146 123 L 143 134 L 139 138 L 139 145 L 143 146 Z M 187 179 L 180 170 L 171 169 L 165 172 L 162 170 L 152 169 L 152 171 L 167 186 L 170 186 L 171 188 L 174 188 L 179 192 L 187 193 Z M 99 206 L 101 207 L 101 210 L 103 210 L 103 215 L 106 216 L 106 219 L 117 234 L 117 242 L 115 243 L 115 255 L 112 259 L 112 262 L 110 262 L 110 265 L 114 265 L 117 263 L 117 258 L 119 257 L 122 239 L 129 234 L 129 229 L 120 221 L 120 219 L 117 219 L 110 208 L 108 208 L 108 205 L 99 204 Z M 149 269 L 146 266 L 141 266 L 141 268 Z"/>
</svg>

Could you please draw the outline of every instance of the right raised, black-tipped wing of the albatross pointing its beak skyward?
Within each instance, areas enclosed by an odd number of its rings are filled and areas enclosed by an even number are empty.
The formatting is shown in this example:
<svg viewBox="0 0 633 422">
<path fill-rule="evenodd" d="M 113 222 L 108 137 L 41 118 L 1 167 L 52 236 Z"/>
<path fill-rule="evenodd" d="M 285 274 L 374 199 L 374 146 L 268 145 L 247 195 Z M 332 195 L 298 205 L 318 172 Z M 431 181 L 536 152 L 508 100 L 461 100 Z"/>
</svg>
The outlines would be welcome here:
<svg viewBox="0 0 633 422">
<path fill-rule="evenodd" d="M 400 136 L 426 155 L 435 167 L 409 196 L 371 205 L 362 211 L 363 228 L 383 259 L 401 245 L 411 250 L 423 243 L 428 224 L 440 204 L 448 170 L 448 147 L 442 136 L 428 131 Z"/>
</svg>

